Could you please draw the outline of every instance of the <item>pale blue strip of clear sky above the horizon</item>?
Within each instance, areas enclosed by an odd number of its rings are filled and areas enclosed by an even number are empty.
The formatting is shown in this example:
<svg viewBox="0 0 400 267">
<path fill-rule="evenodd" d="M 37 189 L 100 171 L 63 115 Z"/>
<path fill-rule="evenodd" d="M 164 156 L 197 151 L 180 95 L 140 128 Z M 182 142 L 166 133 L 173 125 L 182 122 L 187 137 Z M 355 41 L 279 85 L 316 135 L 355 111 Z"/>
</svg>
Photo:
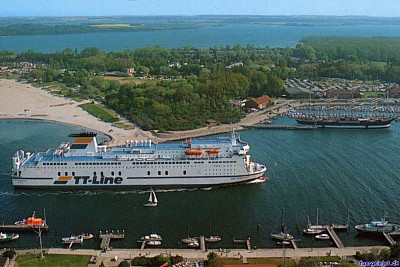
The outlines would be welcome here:
<svg viewBox="0 0 400 267">
<path fill-rule="evenodd" d="M 362 15 L 400 17 L 399 0 L 3 0 L 0 16 Z"/>
</svg>

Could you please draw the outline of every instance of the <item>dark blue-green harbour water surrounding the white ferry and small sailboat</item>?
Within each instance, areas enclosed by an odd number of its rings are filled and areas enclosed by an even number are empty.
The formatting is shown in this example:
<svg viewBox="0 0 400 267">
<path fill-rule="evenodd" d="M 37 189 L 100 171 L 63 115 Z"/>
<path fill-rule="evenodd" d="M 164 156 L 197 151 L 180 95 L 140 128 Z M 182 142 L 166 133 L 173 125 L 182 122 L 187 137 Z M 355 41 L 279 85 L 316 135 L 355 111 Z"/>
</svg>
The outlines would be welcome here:
<svg viewBox="0 0 400 267">
<path fill-rule="evenodd" d="M 134 247 L 141 235 L 155 231 L 163 247 L 179 247 L 187 236 L 220 234 L 216 247 L 232 247 L 233 238 L 251 236 L 252 245 L 274 247 L 269 234 L 278 229 L 284 209 L 288 231 L 301 238 L 300 246 L 329 246 L 303 237 L 307 215 L 315 223 L 369 222 L 386 211 L 400 221 L 400 123 L 383 130 L 315 131 L 250 130 L 241 132 L 251 146 L 252 159 L 266 164 L 269 181 L 260 184 L 194 191 L 157 192 L 159 206 L 145 208 L 147 193 L 137 191 L 39 191 L 14 190 L 11 157 L 18 149 L 42 151 L 55 147 L 71 132 L 81 129 L 61 124 L 0 121 L 0 221 L 13 223 L 33 210 L 46 208 L 50 231 L 47 247 L 61 246 L 61 237 L 82 231 L 125 229 L 127 237 L 114 247 Z M 261 229 L 257 231 L 256 225 Z M 354 228 L 353 228 L 354 229 Z M 345 245 L 386 245 L 383 239 L 358 237 L 355 230 L 340 234 Z M 85 242 L 98 248 L 98 240 Z M 4 243 L 2 245 L 5 245 Z M 34 247 L 33 234 L 22 234 L 7 246 Z"/>
</svg>

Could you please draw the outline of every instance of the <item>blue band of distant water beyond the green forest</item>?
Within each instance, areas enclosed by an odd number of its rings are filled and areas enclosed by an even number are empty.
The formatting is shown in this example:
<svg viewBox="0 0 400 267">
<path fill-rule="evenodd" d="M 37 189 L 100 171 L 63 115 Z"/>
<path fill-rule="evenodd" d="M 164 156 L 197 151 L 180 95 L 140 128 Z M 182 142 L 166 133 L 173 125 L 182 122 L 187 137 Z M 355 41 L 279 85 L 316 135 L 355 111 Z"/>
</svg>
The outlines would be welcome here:
<svg viewBox="0 0 400 267">
<path fill-rule="evenodd" d="M 400 24 L 346 26 L 284 26 L 254 23 L 225 23 L 198 29 L 157 30 L 142 32 L 104 32 L 38 36 L 1 36 L 0 50 L 39 52 L 81 50 L 98 47 L 103 51 L 122 51 L 160 45 L 165 48 L 191 46 L 208 48 L 214 45 L 256 47 L 294 47 L 305 36 L 400 36 Z"/>
</svg>

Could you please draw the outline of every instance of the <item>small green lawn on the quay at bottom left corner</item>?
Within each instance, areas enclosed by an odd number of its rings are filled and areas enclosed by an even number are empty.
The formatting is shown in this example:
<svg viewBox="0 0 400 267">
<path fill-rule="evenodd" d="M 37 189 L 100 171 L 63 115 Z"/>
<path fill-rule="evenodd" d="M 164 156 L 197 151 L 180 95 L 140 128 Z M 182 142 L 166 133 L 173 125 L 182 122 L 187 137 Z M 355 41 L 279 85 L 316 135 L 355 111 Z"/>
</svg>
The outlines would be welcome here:
<svg viewBox="0 0 400 267">
<path fill-rule="evenodd" d="M 23 254 L 17 257 L 19 267 L 25 266 L 71 266 L 86 267 L 89 263 L 90 256 L 78 255 L 45 255 L 44 259 L 40 259 L 39 254 Z"/>
</svg>

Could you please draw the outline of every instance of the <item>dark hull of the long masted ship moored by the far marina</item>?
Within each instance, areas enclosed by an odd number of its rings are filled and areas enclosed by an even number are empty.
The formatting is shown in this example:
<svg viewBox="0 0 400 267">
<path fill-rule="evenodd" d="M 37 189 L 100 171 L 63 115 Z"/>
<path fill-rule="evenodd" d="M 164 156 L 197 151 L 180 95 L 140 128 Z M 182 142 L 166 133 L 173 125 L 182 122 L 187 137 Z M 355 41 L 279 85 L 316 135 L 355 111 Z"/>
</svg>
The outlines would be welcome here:
<svg viewBox="0 0 400 267">
<path fill-rule="evenodd" d="M 342 129 L 382 129 L 389 128 L 393 119 L 388 120 L 308 120 L 296 119 L 303 125 L 315 125 L 319 128 L 342 128 Z"/>
</svg>

